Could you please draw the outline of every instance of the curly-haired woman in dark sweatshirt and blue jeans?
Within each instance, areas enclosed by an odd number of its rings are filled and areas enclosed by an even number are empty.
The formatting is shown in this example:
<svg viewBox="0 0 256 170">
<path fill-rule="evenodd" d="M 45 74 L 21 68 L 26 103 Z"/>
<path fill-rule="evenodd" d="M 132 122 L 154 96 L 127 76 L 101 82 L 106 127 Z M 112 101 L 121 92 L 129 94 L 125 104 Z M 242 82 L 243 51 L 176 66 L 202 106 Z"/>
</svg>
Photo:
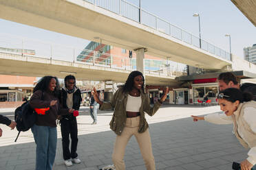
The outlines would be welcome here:
<svg viewBox="0 0 256 170">
<path fill-rule="evenodd" d="M 58 88 L 57 77 L 42 77 L 34 87 L 34 94 L 29 101 L 37 113 L 36 123 L 31 128 L 36 143 L 36 170 L 52 170 L 56 155 L 57 116 L 73 111 L 62 109 L 59 105 Z"/>
</svg>

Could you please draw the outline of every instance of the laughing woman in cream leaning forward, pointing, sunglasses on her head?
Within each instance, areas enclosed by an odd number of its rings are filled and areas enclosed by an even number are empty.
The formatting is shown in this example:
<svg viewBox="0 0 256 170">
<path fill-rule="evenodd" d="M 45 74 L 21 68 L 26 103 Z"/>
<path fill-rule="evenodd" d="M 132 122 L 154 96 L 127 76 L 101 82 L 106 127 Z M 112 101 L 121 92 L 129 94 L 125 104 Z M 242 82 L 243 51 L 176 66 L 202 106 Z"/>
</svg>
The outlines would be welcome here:
<svg viewBox="0 0 256 170">
<path fill-rule="evenodd" d="M 215 124 L 233 123 L 238 141 L 249 147 L 248 158 L 241 162 L 242 170 L 250 170 L 256 164 L 256 101 L 252 95 L 237 88 L 226 88 L 217 95 L 217 101 L 224 114 L 213 113 L 204 117 L 193 117 L 193 121 L 204 120 Z M 254 167 L 256 169 L 256 167 Z"/>
</svg>

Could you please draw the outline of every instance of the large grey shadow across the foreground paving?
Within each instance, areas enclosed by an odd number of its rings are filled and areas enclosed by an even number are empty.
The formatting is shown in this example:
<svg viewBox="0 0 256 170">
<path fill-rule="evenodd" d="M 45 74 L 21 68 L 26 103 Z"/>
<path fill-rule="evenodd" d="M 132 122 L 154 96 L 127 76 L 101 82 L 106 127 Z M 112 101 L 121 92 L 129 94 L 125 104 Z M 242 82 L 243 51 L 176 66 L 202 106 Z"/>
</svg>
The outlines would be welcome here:
<svg viewBox="0 0 256 170">
<path fill-rule="evenodd" d="M 153 123 L 149 127 L 156 169 L 227 170 L 233 161 L 247 158 L 246 149 L 231 133 L 232 125 L 195 123 L 186 118 Z M 82 162 L 72 167 L 63 164 L 61 138 L 58 138 L 54 170 L 92 170 L 112 164 L 115 136 L 110 130 L 78 136 L 78 156 Z M 35 146 L 25 143 L 0 147 L 0 169 L 34 169 Z M 125 162 L 129 170 L 145 169 L 134 136 L 127 145 Z"/>
</svg>

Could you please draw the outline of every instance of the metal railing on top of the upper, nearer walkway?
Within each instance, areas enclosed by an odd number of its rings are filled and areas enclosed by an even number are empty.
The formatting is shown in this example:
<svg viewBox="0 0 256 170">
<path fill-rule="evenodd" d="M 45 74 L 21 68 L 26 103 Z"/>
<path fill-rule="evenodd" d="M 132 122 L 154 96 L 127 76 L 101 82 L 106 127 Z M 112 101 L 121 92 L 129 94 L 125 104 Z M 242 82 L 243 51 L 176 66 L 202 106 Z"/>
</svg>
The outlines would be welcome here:
<svg viewBox="0 0 256 170">
<path fill-rule="evenodd" d="M 146 10 L 139 8 L 138 6 L 129 3 L 125 0 L 83 0 L 92 3 L 100 8 L 109 10 L 121 16 L 125 16 L 127 19 L 147 25 L 153 29 L 158 30 L 164 34 L 172 36 L 178 40 L 182 40 L 189 45 L 200 48 L 200 38 L 193 34 L 186 32 L 185 30 L 177 27 L 160 17 L 147 12 Z M 139 15 L 140 13 L 140 15 Z M 225 60 L 231 60 L 230 53 L 212 45 L 211 43 L 201 38 L 201 49 L 208 51 L 216 56 L 219 56 Z"/>
</svg>

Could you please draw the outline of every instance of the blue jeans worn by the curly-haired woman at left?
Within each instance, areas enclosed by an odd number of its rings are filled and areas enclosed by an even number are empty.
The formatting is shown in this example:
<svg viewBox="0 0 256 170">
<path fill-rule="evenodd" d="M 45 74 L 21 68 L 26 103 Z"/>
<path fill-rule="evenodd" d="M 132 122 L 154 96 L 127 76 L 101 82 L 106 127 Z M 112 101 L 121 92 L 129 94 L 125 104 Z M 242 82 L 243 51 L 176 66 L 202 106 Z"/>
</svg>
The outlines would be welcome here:
<svg viewBox="0 0 256 170">
<path fill-rule="evenodd" d="M 36 170 L 52 170 L 56 155 L 56 127 L 33 125 L 31 128 L 36 142 Z"/>
</svg>

